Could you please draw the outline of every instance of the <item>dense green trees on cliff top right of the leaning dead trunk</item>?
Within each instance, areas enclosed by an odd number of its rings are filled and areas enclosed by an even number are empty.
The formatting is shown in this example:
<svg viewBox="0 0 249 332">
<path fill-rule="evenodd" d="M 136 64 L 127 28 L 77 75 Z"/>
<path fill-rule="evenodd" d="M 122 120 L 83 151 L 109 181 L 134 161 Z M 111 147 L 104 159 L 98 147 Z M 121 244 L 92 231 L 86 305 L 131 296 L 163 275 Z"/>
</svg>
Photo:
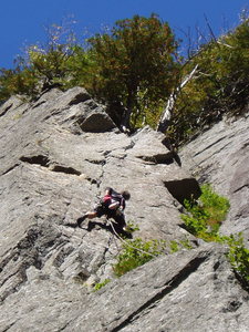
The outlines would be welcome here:
<svg viewBox="0 0 249 332">
<path fill-rule="evenodd" d="M 196 71 L 174 101 L 167 135 L 177 146 L 220 121 L 248 111 L 249 18 L 226 34 L 203 44 L 183 66 Z"/>
</svg>

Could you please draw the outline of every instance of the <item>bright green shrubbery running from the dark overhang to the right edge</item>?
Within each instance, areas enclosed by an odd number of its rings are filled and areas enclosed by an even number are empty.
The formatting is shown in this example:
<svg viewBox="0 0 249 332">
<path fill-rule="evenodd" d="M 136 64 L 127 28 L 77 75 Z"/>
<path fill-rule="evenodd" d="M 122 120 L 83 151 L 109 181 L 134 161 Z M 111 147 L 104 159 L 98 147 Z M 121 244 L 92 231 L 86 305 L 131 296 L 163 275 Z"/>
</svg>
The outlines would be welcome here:
<svg viewBox="0 0 249 332">
<path fill-rule="evenodd" d="M 221 221 L 227 216 L 229 201 L 214 193 L 209 185 L 201 186 L 201 191 L 198 204 L 186 201 L 188 215 L 181 215 L 181 219 L 187 230 L 196 237 L 229 246 L 227 256 L 230 264 L 249 290 L 249 249 L 243 245 L 242 235 L 226 237 L 218 232 Z"/>
</svg>

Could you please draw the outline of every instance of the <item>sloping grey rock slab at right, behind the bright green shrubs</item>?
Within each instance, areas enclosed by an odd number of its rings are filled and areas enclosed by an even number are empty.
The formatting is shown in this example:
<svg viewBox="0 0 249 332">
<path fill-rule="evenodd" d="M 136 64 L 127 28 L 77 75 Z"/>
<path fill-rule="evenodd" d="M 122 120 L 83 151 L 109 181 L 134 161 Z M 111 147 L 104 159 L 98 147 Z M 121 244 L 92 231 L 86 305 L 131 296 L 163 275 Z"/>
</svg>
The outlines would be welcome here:
<svg viewBox="0 0 249 332">
<path fill-rule="evenodd" d="M 242 231 L 249 248 L 249 114 L 216 124 L 189 143 L 180 157 L 199 181 L 210 183 L 229 198 L 231 207 L 221 231 Z"/>
</svg>

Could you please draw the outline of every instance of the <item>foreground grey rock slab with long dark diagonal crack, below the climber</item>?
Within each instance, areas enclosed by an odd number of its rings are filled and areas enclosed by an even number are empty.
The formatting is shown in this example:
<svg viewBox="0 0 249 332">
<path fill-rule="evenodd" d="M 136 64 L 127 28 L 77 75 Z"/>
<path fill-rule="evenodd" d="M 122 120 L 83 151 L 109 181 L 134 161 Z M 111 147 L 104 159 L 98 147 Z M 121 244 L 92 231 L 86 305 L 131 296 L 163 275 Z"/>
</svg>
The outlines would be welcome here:
<svg viewBox="0 0 249 332">
<path fill-rule="evenodd" d="M 1 309 L 2 331 L 246 332 L 248 294 L 224 253 L 208 245 L 160 257 L 94 293 L 32 267 Z"/>
</svg>

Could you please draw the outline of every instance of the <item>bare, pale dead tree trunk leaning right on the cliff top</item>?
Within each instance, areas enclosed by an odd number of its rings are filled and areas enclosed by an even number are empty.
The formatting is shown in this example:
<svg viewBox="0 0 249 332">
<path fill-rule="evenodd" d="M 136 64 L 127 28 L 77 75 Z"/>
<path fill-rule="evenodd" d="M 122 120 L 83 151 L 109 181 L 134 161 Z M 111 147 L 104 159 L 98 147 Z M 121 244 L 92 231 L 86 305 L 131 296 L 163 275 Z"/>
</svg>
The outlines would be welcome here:
<svg viewBox="0 0 249 332">
<path fill-rule="evenodd" d="M 176 98 L 180 92 L 180 90 L 194 77 L 196 71 L 198 69 L 198 64 L 194 68 L 194 70 L 190 72 L 190 74 L 188 74 L 184 80 L 183 82 L 180 83 L 179 86 L 177 86 L 173 93 L 170 94 L 168 101 L 167 101 L 167 105 L 160 116 L 160 120 L 158 122 L 158 125 L 157 125 L 157 132 L 162 132 L 162 133 L 165 133 L 166 129 L 168 128 L 169 124 L 170 124 L 170 120 L 172 120 L 172 115 L 173 115 L 173 110 L 174 110 L 174 106 L 175 106 L 175 102 L 176 102 Z"/>
</svg>

